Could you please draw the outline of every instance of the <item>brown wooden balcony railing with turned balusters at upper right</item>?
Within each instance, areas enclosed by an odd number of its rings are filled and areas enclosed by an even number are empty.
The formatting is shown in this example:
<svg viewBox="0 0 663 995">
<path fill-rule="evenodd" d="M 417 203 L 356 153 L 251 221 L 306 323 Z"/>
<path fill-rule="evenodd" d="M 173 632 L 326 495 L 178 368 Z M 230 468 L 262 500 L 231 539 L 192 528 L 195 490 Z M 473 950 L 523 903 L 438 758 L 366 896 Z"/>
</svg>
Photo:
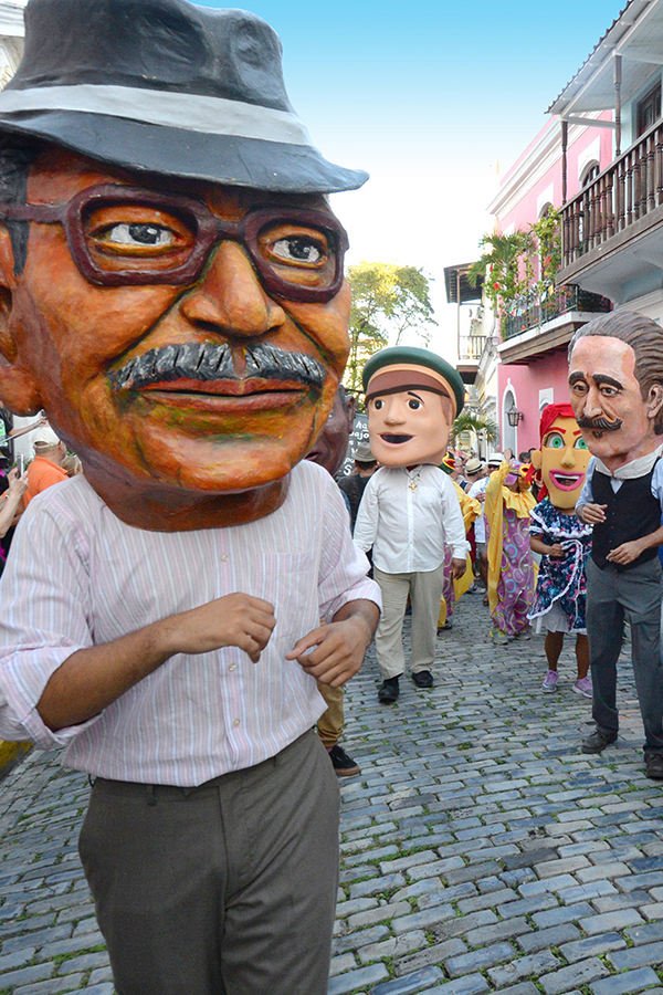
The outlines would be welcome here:
<svg viewBox="0 0 663 995">
<path fill-rule="evenodd" d="M 663 121 L 561 208 L 562 268 L 663 203 Z"/>
</svg>

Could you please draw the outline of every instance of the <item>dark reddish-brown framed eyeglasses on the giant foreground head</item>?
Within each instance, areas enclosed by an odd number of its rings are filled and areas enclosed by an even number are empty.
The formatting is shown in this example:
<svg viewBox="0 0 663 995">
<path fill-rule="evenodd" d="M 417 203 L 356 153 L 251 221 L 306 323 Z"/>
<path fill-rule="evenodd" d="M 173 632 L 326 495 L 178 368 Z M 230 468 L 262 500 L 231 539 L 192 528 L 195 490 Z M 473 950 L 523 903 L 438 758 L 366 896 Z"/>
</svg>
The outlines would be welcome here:
<svg viewBox="0 0 663 995">
<path fill-rule="evenodd" d="M 325 303 L 343 284 L 348 237 L 332 214 L 294 207 L 255 208 L 218 218 L 201 200 L 104 184 L 67 203 L 1 203 L 0 220 L 62 224 L 74 263 L 96 286 L 196 283 L 214 245 L 246 251 L 265 291 L 286 301 Z"/>
</svg>

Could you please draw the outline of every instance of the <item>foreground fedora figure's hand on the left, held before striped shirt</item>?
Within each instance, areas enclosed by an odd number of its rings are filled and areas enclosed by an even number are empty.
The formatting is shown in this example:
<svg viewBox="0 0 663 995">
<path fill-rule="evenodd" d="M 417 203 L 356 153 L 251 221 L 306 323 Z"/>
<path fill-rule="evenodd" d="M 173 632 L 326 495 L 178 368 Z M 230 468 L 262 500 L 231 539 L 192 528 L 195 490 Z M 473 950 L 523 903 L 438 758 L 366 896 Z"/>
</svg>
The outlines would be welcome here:
<svg viewBox="0 0 663 995">
<path fill-rule="evenodd" d="M 257 663 L 275 625 L 273 605 L 238 593 L 165 618 L 160 629 L 169 656 L 236 646 Z"/>
</svg>

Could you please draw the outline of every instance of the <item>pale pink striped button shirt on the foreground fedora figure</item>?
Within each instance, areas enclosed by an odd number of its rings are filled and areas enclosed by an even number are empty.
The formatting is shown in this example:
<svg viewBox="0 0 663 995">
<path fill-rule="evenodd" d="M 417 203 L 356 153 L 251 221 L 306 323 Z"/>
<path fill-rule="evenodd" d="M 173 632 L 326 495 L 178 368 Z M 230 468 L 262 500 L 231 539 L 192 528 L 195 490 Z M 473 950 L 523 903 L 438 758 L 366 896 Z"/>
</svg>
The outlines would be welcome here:
<svg viewBox="0 0 663 995">
<path fill-rule="evenodd" d="M 296 640 L 347 601 L 379 604 L 341 494 L 309 462 L 278 511 L 249 525 L 146 532 L 125 525 L 83 476 L 23 515 L 0 583 L 0 737 L 65 746 L 64 763 L 116 781 L 193 786 L 274 756 L 325 710 L 287 661 Z M 260 662 L 227 647 L 179 653 L 105 709 L 51 732 L 42 691 L 73 652 L 233 591 L 275 606 Z"/>
</svg>

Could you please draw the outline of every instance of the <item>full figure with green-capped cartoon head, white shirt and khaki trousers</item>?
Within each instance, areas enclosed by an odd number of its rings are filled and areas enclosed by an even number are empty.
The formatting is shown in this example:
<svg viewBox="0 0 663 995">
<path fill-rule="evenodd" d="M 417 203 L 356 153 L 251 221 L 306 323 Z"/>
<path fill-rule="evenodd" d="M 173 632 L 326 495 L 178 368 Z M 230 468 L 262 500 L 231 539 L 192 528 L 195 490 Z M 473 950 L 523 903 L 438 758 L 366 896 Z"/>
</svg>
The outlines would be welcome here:
<svg viewBox="0 0 663 995">
<path fill-rule="evenodd" d="M 393 703 L 406 668 L 408 596 L 412 680 L 417 688 L 432 688 L 445 544 L 453 548 L 453 576 L 465 572 L 469 543 L 459 499 L 439 469 L 451 425 L 463 407 L 464 386 L 441 356 L 396 346 L 368 360 L 364 389 L 370 446 L 380 469 L 364 492 L 354 538 L 364 552 L 372 548 L 373 577 L 382 591 L 376 633 L 382 675 L 378 700 Z"/>
</svg>

